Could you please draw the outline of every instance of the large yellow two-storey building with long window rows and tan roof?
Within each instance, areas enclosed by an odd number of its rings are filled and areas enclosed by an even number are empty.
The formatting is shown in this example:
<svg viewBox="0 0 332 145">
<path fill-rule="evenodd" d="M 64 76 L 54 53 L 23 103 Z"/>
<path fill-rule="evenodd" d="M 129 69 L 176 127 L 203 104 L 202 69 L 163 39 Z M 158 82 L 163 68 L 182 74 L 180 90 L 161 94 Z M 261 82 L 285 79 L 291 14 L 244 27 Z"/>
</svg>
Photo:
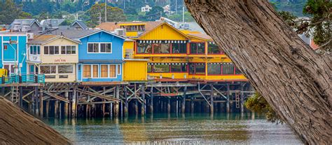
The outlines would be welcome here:
<svg viewBox="0 0 332 145">
<path fill-rule="evenodd" d="M 157 81 L 247 80 L 206 34 L 179 30 L 161 21 L 104 22 L 98 27 L 107 31 L 125 29 L 127 38 L 134 40 L 125 42 L 125 57 L 149 60 L 147 75 L 150 79 Z"/>
</svg>

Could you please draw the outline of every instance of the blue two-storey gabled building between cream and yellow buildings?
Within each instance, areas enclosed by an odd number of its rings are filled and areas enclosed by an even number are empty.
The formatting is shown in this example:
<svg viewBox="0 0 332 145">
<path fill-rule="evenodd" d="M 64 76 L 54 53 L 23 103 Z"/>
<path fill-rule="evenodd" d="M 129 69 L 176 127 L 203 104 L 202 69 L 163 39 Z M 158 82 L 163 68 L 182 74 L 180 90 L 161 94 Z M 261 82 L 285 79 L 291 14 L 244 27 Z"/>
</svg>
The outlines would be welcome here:
<svg viewBox="0 0 332 145">
<path fill-rule="evenodd" d="M 50 34 L 80 41 L 76 81 L 122 81 L 125 38 L 96 29 L 57 29 Z"/>
</svg>

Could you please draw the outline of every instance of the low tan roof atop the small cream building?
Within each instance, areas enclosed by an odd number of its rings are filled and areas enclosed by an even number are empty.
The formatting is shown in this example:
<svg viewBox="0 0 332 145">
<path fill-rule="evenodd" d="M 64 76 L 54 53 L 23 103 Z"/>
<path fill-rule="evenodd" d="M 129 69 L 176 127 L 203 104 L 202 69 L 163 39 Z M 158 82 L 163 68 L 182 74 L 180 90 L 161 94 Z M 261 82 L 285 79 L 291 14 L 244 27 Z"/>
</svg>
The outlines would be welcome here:
<svg viewBox="0 0 332 145">
<path fill-rule="evenodd" d="M 50 41 L 54 41 L 56 39 L 67 39 L 69 41 L 72 41 L 74 43 L 80 43 L 79 41 L 75 41 L 74 39 L 69 39 L 65 36 L 61 36 L 61 35 L 40 35 L 40 36 L 35 36 L 34 39 L 32 39 L 31 41 L 29 41 L 29 43 L 34 43 L 34 44 L 44 44 L 44 43 L 48 43 Z"/>
</svg>

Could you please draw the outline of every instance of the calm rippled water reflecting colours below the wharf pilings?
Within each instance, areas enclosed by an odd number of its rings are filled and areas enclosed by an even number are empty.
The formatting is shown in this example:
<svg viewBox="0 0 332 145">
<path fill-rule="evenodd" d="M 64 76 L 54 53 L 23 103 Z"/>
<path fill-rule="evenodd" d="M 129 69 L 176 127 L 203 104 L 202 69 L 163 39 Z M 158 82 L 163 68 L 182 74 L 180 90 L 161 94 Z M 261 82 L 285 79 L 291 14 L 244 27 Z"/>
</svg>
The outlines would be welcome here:
<svg viewBox="0 0 332 145">
<path fill-rule="evenodd" d="M 240 114 L 45 120 L 75 144 L 301 144 L 288 125 Z"/>
</svg>

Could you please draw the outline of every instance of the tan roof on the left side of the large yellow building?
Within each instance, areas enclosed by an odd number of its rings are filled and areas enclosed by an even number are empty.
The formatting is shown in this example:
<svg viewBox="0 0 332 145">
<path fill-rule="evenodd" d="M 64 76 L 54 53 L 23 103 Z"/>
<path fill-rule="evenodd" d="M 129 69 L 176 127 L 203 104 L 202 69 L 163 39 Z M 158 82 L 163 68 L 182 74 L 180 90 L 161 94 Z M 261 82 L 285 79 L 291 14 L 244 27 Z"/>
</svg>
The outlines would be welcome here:
<svg viewBox="0 0 332 145">
<path fill-rule="evenodd" d="M 150 32 L 152 29 L 155 29 L 163 22 L 161 21 L 148 21 L 148 22 L 103 22 L 102 24 L 98 25 L 96 28 L 104 29 L 109 32 L 113 32 L 115 29 L 120 29 L 120 25 L 145 25 L 145 31 L 141 33 L 139 36 Z M 138 37 L 139 37 L 138 36 Z"/>
</svg>

